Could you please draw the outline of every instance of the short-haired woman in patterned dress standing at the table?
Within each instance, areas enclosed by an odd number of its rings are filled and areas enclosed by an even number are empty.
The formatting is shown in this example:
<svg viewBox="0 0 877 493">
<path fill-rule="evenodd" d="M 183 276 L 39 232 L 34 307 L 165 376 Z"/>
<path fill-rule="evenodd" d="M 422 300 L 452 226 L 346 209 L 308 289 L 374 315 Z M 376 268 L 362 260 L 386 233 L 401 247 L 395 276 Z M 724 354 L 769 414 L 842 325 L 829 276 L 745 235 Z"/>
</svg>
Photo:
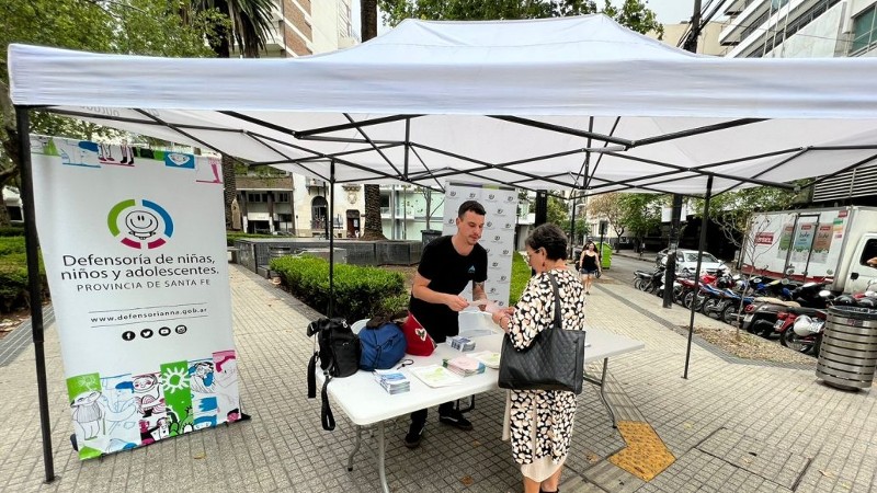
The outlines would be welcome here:
<svg viewBox="0 0 877 493">
<path fill-rule="evenodd" d="M 584 330 L 584 288 L 567 268 L 567 237 L 554 225 L 542 225 L 526 239 L 529 266 L 536 272 L 512 313 L 493 313 L 493 321 L 523 349 L 554 321 L 555 295 L 560 295 L 565 330 Z M 521 465 L 525 493 L 557 492 L 576 419 L 576 394 L 560 390 L 510 390 L 505 402 L 503 439 Z"/>
</svg>

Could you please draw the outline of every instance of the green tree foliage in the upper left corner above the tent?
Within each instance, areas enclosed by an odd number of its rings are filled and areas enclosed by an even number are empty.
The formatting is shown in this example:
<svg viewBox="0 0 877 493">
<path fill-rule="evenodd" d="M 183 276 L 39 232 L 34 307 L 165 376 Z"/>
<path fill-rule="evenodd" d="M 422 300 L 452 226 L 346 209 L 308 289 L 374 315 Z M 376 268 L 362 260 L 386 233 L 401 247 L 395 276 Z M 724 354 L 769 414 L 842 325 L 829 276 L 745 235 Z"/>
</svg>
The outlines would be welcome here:
<svg viewBox="0 0 877 493">
<path fill-rule="evenodd" d="M 9 94 L 5 54 L 11 43 L 56 46 L 87 51 L 155 56 L 203 57 L 210 50 L 205 38 L 214 33 L 217 13 L 204 11 L 184 20 L 182 3 L 168 0 L 29 0 L 0 2 L 0 204 L 2 187 L 16 179 L 21 157 L 15 111 Z M 93 139 L 114 130 L 76 119 L 34 113 L 31 131 L 70 138 Z M 0 226 L 8 225 L 0 207 Z"/>
</svg>

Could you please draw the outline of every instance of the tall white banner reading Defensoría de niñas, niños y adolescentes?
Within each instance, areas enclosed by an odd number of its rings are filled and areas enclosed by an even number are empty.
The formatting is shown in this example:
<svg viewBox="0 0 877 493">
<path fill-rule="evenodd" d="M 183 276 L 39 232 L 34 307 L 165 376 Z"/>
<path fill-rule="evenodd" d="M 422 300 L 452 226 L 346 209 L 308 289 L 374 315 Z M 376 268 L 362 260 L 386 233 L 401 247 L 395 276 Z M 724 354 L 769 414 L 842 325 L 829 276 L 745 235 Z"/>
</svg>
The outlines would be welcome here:
<svg viewBox="0 0 877 493">
<path fill-rule="evenodd" d="M 79 457 L 240 415 L 218 159 L 31 137 Z"/>
</svg>

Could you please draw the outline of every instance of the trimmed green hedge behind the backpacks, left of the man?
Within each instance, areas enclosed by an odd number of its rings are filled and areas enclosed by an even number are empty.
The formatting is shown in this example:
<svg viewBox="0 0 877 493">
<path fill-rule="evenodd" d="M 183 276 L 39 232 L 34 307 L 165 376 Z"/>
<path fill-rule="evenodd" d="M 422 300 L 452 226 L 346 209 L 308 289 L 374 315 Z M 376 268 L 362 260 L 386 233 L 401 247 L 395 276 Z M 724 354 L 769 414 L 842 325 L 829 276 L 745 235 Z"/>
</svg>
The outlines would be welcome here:
<svg viewBox="0 0 877 493">
<path fill-rule="evenodd" d="M 271 261 L 296 298 L 324 313 L 329 307 L 329 262 L 312 256 L 284 256 Z M 398 272 L 358 265 L 334 265 L 333 314 L 349 321 L 392 314 L 408 307 L 405 277 Z"/>
</svg>

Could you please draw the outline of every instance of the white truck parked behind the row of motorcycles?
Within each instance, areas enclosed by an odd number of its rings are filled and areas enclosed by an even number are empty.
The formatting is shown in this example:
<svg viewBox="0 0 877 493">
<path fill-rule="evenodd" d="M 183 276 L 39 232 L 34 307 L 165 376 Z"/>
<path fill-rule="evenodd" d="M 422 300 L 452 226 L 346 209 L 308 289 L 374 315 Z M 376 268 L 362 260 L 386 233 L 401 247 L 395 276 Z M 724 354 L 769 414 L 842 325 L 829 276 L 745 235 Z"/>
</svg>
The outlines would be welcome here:
<svg viewBox="0 0 877 493">
<path fill-rule="evenodd" d="M 833 207 L 756 214 L 741 252 L 741 271 L 771 278 L 829 283 L 859 293 L 877 279 L 877 208 Z"/>
</svg>

